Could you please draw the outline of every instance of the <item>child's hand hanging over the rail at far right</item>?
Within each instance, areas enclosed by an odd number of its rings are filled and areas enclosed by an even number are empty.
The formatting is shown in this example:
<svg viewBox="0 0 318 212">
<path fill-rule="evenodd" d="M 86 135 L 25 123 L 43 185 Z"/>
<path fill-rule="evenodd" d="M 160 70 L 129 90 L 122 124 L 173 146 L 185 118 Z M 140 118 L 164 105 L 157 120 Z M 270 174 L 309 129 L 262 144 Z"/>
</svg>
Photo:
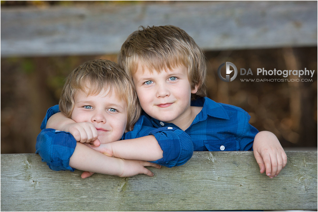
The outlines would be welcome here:
<svg viewBox="0 0 318 212">
<path fill-rule="evenodd" d="M 253 143 L 254 157 L 260 173 L 276 177 L 287 164 L 287 155 L 277 137 L 269 131 L 257 133 Z"/>
</svg>

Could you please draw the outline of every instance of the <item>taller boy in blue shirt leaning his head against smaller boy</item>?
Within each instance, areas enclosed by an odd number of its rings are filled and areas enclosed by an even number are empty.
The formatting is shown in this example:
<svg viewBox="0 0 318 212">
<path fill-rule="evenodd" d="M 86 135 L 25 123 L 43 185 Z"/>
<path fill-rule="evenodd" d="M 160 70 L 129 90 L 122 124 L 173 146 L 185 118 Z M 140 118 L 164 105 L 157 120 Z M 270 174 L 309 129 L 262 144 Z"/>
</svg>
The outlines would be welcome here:
<svg viewBox="0 0 318 212">
<path fill-rule="evenodd" d="M 266 170 L 270 178 L 286 165 L 287 156 L 273 133 L 258 132 L 244 110 L 205 97 L 204 54 L 180 28 L 153 26 L 133 32 L 121 47 L 118 63 L 132 78 L 144 111 L 142 122 L 125 133 L 125 139 L 136 138 L 146 126 L 165 126 L 188 133 L 194 151 L 253 149 L 260 172 Z M 121 140 L 94 149 L 132 159 L 126 156 L 129 144 Z"/>
</svg>

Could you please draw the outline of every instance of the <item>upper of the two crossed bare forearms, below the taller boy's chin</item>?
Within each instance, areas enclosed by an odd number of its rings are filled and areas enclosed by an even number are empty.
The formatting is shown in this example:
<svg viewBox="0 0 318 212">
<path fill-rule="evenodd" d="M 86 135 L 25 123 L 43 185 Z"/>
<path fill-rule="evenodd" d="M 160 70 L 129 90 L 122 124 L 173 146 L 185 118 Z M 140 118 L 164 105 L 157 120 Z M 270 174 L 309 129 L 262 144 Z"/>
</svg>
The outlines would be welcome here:
<svg viewBox="0 0 318 212">
<path fill-rule="evenodd" d="M 163 157 L 163 151 L 153 135 L 115 141 L 108 145 L 117 158 L 155 161 Z"/>
</svg>

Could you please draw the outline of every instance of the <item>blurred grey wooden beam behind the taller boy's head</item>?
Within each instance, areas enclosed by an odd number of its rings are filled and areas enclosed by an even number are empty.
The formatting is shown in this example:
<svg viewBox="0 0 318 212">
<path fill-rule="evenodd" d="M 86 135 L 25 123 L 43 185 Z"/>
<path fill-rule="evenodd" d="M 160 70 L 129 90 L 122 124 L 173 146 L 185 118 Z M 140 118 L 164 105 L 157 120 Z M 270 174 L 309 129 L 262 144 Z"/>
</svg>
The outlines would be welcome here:
<svg viewBox="0 0 318 212">
<path fill-rule="evenodd" d="M 179 26 L 204 50 L 317 46 L 317 2 L 1 7 L 1 57 L 117 53 L 140 25 Z"/>
</svg>

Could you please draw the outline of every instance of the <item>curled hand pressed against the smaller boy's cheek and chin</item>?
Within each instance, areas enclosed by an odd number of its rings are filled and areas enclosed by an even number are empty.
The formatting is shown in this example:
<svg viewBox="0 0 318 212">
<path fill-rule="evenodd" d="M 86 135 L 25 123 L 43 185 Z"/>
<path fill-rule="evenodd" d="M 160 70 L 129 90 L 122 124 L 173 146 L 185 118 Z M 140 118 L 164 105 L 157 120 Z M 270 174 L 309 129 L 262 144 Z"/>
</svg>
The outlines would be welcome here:
<svg viewBox="0 0 318 212">
<path fill-rule="evenodd" d="M 100 145 L 100 141 L 97 138 L 97 130 L 92 123 L 79 122 L 65 124 L 63 131 L 71 133 L 75 140 L 79 141 L 80 143 L 91 142 L 94 146 Z"/>
</svg>

